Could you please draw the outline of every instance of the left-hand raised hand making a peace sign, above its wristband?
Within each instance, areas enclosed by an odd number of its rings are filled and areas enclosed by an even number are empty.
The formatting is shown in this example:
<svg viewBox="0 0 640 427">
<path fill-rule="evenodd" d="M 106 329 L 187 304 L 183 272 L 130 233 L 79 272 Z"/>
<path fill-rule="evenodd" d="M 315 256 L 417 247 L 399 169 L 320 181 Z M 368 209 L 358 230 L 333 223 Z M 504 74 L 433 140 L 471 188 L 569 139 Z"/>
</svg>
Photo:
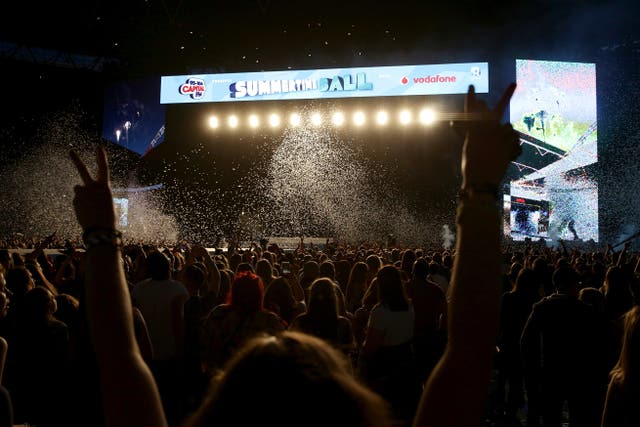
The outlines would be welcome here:
<svg viewBox="0 0 640 427">
<path fill-rule="evenodd" d="M 70 151 L 69 156 L 76 165 L 83 184 L 73 188 L 73 207 L 80 226 L 83 230 L 92 227 L 115 229 L 116 214 L 111 196 L 109 164 L 104 148 L 99 147 L 96 150 L 98 171 L 95 179 L 91 177 L 87 166 L 75 151 Z"/>
</svg>

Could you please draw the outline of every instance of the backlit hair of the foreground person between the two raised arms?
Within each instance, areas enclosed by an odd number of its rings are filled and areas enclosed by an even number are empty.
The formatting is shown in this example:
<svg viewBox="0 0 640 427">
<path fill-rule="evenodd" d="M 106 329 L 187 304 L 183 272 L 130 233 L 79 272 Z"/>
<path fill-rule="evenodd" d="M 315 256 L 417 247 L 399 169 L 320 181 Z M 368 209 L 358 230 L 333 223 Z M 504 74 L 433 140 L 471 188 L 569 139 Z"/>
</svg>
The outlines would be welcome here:
<svg viewBox="0 0 640 427">
<path fill-rule="evenodd" d="M 284 332 L 249 341 L 215 378 L 187 427 L 391 425 L 388 405 L 313 336 Z"/>
</svg>

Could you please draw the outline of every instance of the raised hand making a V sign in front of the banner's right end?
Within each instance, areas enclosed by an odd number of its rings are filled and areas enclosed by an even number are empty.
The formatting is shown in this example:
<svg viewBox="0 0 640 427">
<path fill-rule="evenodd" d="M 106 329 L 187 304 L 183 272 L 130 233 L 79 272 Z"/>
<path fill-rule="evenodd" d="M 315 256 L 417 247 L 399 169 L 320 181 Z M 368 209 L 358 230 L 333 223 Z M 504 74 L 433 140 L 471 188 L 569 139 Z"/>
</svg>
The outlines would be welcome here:
<svg viewBox="0 0 640 427">
<path fill-rule="evenodd" d="M 476 98 L 469 86 L 465 99 L 465 113 L 490 113 L 487 120 L 478 121 L 467 129 L 462 150 L 462 188 L 496 187 L 504 177 L 509 162 L 521 153 L 518 134 L 510 124 L 500 124 L 509 100 L 516 89 L 511 83 L 493 110 Z"/>
</svg>

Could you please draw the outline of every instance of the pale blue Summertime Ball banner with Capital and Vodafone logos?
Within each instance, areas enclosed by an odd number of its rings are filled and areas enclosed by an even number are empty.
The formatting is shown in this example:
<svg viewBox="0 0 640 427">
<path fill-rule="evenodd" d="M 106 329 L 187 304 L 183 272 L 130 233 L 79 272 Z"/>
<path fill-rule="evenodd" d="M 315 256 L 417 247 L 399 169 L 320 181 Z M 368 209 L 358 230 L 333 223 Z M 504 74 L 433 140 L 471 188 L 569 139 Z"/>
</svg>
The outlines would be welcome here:
<svg viewBox="0 0 640 427">
<path fill-rule="evenodd" d="M 161 104 L 464 94 L 489 91 L 486 62 L 163 76 Z"/>
</svg>

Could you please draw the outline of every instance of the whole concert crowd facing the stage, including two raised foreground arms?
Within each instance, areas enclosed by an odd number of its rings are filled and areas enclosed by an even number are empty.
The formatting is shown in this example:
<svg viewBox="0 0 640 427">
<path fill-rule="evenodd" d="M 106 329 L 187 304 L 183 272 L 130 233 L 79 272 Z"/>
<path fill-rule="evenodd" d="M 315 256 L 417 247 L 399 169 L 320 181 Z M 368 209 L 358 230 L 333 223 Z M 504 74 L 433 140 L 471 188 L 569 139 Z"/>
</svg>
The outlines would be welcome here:
<svg viewBox="0 0 640 427">
<path fill-rule="evenodd" d="M 72 152 L 83 249 L 0 250 L 0 426 L 640 425 L 638 254 L 500 247 L 514 88 L 463 130 L 453 250 L 123 244 Z"/>
</svg>

